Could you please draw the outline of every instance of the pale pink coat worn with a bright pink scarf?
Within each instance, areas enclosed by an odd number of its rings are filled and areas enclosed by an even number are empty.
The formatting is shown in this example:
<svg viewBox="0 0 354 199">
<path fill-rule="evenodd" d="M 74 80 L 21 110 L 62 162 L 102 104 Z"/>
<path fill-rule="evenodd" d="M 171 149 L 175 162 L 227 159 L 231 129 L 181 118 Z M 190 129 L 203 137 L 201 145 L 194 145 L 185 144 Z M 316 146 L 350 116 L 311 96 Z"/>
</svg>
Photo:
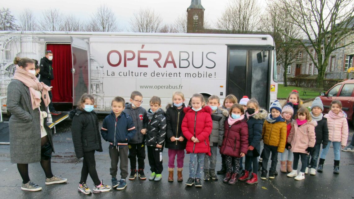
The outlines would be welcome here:
<svg viewBox="0 0 354 199">
<path fill-rule="evenodd" d="M 309 154 L 307 147 L 314 147 L 316 143 L 315 120 L 308 121 L 307 123 L 299 126 L 296 120 L 292 121 L 292 128 L 287 138 L 287 142 L 291 143 L 291 151 L 296 153 Z"/>
</svg>

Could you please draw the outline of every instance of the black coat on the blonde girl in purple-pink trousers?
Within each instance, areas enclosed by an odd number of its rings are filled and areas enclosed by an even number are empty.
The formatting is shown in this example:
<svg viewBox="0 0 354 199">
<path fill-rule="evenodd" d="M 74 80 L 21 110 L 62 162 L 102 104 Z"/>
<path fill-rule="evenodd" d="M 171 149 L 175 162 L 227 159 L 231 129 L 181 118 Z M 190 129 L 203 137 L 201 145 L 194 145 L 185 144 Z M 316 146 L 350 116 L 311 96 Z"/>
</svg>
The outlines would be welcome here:
<svg viewBox="0 0 354 199">
<path fill-rule="evenodd" d="M 173 106 L 172 104 L 168 104 L 166 107 L 166 120 L 167 120 L 167 127 L 166 127 L 166 143 L 165 147 L 169 149 L 185 149 L 185 145 L 187 144 L 187 140 L 183 136 L 183 132 L 181 129 L 182 120 L 184 118 L 183 109 L 185 108 L 184 103 L 182 104 L 181 109 L 177 109 L 177 107 Z M 174 141 L 172 142 L 170 139 L 172 136 L 180 137 L 182 136 L 184 140 Z"/>
</svg>

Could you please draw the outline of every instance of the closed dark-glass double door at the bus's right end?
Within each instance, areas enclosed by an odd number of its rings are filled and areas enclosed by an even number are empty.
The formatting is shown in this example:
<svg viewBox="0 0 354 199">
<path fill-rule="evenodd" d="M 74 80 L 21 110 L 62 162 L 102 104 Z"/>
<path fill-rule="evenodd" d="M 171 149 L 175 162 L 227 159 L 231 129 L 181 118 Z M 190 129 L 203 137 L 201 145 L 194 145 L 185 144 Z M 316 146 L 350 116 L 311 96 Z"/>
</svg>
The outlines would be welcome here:
<svg viewBox="0 0 354 199">
<path fill-rule="evenodd" d="M 269 108 L 269 50 L 266 48 L 229 47 L 227 95 L 238 101 L 242 96 L 256 98 L 259 106 Z"/>
</svg>

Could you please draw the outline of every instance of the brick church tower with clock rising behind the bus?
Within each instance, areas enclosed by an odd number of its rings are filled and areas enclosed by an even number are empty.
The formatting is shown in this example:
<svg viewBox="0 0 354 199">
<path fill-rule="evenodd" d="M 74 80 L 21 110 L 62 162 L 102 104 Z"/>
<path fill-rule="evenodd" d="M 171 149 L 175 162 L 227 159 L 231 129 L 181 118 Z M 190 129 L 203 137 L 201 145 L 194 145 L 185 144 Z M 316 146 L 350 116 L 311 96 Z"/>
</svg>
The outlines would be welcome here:
<svg viewBox="0 0 354 199">
<path fill-rule="evenodd" d="M 202 33 L 204 30 L 204 7 L 201 0 L 192 0 L 187 8 L 187 33 Z"/>
</svg>

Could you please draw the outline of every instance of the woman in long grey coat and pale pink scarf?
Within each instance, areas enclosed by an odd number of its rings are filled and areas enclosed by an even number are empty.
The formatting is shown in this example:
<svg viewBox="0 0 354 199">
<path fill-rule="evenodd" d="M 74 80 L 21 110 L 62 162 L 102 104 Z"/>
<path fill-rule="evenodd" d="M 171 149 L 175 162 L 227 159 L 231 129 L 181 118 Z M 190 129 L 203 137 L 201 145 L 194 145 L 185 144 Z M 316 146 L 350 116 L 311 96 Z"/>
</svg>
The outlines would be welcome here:
<svg viewBox="0 0 354 199">
<path fill-rule="evenodd" d="M 22 190 L 39 191 L 42 188 L 29 179 L 28 164 L 40 162 L 45 175 L 45 184 L 66 182 L 54 176 L 51 169 L 53 152 L 52 131 L 46 123 L 46 109 L 50 102 L 50 88 L 39 83 L 35 77 L 33 59 L 16 57 L 14 79 L 7 87 L 7 110 L 11 113 L 10 158 L 17 163 L 22 177 Z M 44 110 L 44 111 L 41 111 Z"/>
</svg>

